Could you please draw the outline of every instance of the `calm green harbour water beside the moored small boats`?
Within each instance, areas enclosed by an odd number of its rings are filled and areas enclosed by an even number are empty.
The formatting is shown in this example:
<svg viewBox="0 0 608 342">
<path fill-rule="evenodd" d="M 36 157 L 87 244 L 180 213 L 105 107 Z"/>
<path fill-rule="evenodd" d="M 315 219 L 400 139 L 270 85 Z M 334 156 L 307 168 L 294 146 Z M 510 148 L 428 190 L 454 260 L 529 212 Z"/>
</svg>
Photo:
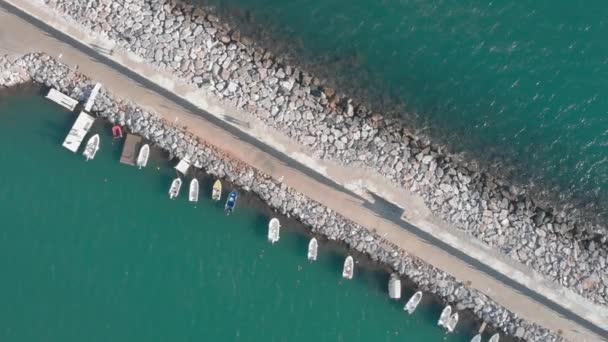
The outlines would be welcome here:
<svg viewBox="0 0 608 342">
<path fill-rule="evenodd" d="M 169 200 L 174 171 L 119 164 L 99 121 L 101 150 L 85 162 L 61 147 L 74 119 L 42 97 L 0 97 L 0 340 L 470 339 L 466 324 L 449 337 L 435 326 L 437 304 L 405 314 L 384 273 L 342 280 L 336 248 L 321 242 L 310 264 L 301 233 L 270 246 L 255 199 L 230 217 L 205 196 Z"/>
</svg>

